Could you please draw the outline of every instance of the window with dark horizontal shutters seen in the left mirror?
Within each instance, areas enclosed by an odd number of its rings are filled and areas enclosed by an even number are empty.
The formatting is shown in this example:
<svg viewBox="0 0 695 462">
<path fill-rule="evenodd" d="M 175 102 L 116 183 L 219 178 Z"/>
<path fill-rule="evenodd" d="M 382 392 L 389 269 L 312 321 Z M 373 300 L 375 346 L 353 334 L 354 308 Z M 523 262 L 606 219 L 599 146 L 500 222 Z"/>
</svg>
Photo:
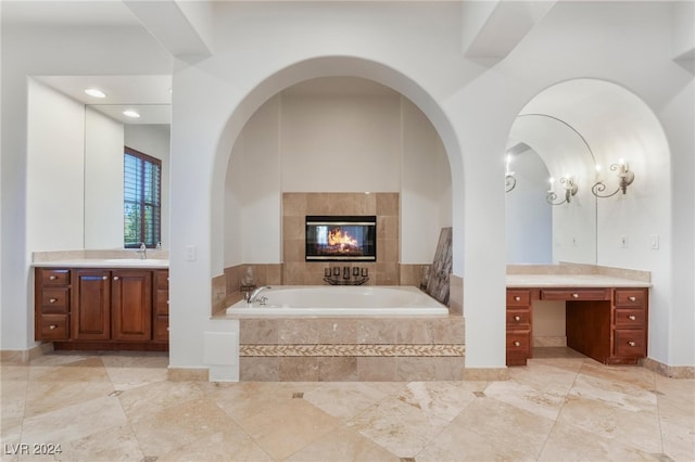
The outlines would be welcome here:
<svg viewBox="0 0 695 462">
<path fill-rule="evenodd" d="M 155 247 L 162 240 L 161 197 L 162 161 L 124 149 L 123 221 L 124 246 Z"/>
</svg>

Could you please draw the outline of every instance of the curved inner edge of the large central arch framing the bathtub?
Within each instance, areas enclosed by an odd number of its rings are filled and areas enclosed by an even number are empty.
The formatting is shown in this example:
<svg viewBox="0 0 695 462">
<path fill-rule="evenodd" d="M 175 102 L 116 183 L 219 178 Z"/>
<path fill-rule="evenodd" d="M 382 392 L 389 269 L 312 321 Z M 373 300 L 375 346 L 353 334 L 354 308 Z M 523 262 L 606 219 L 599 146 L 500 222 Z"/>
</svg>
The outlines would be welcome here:
<svg viewBox="0 0 695 462">
<path fill-rule="evenodd" d="M 326 56 L 303 61 L 286 67 L 260 82 L 239 104 L 224 127 L 223 134 L 216 146 L 214 158 L 213 181 L 212 181 L 212 217 L 211 217 L 211 248 L 216 249 L 211 259 L 212 274 L 219 274 L 226 266 L 233 261 L 225 261 L 225 252 L 217 252 L 225 248 L 225 221 L 235 217 L 225 217 L 224 201 L 225 184 L 227 182 L 227 167 L 236 143 L 240 139 L 243 128 L 254 114 L 274 95 L 282 90 L 311 79 L 319 77 L 357 77 L 380 84 L 400 93 L 408 104 L 416 106 L 431 123 L 434 128 L 451 171 L 451 202 L 463 203 L 463 161 L 460 147 L 454 130 L 432 95 L 428 94 L 415 80 L 403 75 L 396 69 L 381 63 L 356 59 L 350 56 Z M 250 175 L 262 172 L 251 172 Z M 463 221 L 463 210 L 451 210 L 451 221 L 455 230 L 458 228 L 459 235 L 463 235 L 463 227 L 457 227 L 457 222 Z M 454 243 L 456 246 L 456 243 Z M 459 249 L 459 255 L 462 254 Z M 460 259 L 463 261 L 463 257 Z M 241 261 L 238 261 L 241 262 Z M 459 264 L 463 266 L 463 264 Z M 457 262 L 454 261 L 456 269 Z"/>
</svg>

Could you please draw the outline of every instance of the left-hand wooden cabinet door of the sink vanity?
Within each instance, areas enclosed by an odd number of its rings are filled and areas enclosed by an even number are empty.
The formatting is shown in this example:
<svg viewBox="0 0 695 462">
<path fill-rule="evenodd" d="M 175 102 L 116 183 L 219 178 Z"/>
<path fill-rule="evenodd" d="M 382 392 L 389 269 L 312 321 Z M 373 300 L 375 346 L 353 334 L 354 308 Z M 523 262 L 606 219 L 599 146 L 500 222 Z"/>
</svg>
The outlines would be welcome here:
<svg viewBox="0 0 695 462">
<path fill-rule="evenodd" d="M 111 337 L 111 271 L 78 269 L 73 272 L 73 338 L 106 341 Z"/>
</svg>

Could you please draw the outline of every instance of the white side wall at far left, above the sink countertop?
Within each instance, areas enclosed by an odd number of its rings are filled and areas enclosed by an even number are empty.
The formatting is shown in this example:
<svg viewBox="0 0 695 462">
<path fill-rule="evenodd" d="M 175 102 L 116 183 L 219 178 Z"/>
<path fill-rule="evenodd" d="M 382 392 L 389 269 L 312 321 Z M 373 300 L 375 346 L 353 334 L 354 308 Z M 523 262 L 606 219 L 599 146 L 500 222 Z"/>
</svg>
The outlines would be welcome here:
<svg viewBox="0 0 695 462">
<path fill-rule="evenodd" d="M 81 248 L 85 107 L 34 79 L 27 106 L 27 247 Z"/>
</svg>

